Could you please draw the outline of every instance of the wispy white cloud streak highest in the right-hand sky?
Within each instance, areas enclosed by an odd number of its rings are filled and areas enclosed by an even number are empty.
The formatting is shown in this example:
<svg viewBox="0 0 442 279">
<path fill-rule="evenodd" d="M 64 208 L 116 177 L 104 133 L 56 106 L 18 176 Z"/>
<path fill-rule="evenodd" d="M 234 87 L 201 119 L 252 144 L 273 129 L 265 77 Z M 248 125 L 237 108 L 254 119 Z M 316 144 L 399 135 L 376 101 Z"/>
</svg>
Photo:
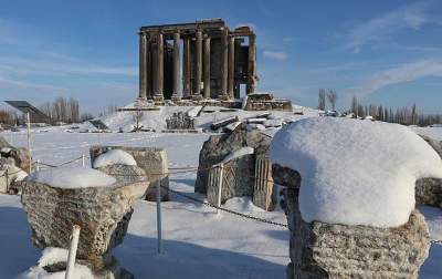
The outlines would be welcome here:
<svg viewBox="0 0 442 279">
<path fill-rule="evenodd" d="M 419 30 L 429 23 L 438 23 L 425 12 L 429 2 L 418 2 L 373 18 L 355 25 L 347 34 L 346 48 L 358 52 L 366 44 L 389 40 L 389 37 L 402 29 Z"/>
</svg>

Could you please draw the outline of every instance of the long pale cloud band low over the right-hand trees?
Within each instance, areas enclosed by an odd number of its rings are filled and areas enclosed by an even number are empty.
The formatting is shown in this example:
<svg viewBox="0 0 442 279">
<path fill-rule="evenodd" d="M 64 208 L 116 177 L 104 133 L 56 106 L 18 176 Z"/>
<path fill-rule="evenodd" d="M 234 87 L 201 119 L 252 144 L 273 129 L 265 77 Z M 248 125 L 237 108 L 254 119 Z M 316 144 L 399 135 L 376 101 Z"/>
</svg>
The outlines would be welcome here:
<svg viewBox="0 0 442 279">
<path fill-rule="evenodd" d="M 442 60 L 419 60 L 371 76 L 357 89 L 358 95 L 368 95 L 382 87 L 415 81 L 425 76 L 442 78 Z"/>
</svg>

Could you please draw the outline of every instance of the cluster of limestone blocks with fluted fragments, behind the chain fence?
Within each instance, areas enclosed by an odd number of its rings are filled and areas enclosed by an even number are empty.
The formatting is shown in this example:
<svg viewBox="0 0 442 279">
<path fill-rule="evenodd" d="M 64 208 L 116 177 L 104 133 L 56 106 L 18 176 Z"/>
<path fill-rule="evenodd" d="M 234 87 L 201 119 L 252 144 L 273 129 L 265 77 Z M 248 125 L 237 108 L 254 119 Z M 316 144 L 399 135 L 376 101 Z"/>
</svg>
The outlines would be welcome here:
<svg viewBox="0 0 442 279">
<path fill-rule="evenodd" d="M 272 210 L 272 169 L 267 158 L 271 137 L 259 132 L 248 131 L 244 124 L 232 133 L 211 136 L 202 146 L 194 190 L 207 194 L 209 203 L 217 205 L 220 163 L 242 147 L 252 147 L 253 154 L 234 157 L 224 163 L 221 202 L 232 197 L 248 196 L 253 203 Z"/>
</svg>

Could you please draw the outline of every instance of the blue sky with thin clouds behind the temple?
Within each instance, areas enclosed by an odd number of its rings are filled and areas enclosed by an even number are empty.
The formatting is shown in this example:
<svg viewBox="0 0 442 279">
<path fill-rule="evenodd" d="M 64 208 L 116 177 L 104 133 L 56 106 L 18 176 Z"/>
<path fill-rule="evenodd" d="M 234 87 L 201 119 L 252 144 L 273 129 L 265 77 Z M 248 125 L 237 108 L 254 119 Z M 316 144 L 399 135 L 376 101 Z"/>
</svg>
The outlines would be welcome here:
<svg viewBox="0 0 442 279">
<path fill-rule="evenodd" d="M 141 25 L 223 18 L 256 32 L 259 90 L 316 106 L 417 103 L 442 113 L 442 1 L 6 1 L 0 99 L 74 96 L 84 111 L 138 94 Z M 99 101 L 102 100 L 102 101 Z"/>
</svg>

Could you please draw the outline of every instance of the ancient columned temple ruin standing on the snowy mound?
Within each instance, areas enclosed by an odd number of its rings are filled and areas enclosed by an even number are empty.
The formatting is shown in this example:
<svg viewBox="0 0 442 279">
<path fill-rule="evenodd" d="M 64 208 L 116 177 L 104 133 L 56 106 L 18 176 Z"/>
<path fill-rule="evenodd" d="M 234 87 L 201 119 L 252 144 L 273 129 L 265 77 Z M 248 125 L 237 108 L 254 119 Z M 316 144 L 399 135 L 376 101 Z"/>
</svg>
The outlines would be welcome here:
<svg viewBox="0 0 442 279">
<path fill-rule="evenodd" d="M 244 85 L 253 93 L 256 81 L 249 27 L 231 30 L 222 19 L 210 19 L 139 30 L 140 100 L 233 100 Z"/>
</svg>

